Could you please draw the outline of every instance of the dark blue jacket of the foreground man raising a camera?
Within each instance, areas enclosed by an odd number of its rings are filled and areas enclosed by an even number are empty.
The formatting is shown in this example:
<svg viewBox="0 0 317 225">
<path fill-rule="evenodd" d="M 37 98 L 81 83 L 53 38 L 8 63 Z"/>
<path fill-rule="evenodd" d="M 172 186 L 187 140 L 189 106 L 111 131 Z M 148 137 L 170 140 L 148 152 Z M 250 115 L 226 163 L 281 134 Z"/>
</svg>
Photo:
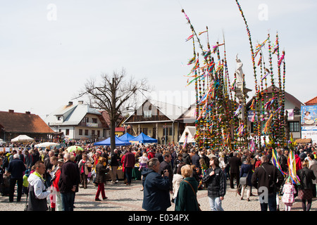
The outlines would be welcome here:
<svg viewBox="0 0 317 225">
<path fill-rule="evenodd" d="M 144 191 L 142 208 L 147 211 L 166 211 L 170 207 L 170 182 L 153 169 L 144 168 Z"/>
</svg>

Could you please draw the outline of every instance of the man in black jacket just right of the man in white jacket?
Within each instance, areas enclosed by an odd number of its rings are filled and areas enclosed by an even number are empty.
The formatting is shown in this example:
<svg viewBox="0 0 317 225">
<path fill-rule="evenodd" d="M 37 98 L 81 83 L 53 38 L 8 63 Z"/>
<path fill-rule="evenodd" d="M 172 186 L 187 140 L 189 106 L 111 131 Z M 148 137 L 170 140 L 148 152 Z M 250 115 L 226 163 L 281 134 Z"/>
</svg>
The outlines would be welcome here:
<svg viewBox="0 0 317 225">
<path fill-rule="evenodd" d="M 61 177 L 58 188 L 61 192 L 63 211 L 73 211 L 75 202 L 75 191 L 80 184 L 80 172 L 75 162 L 70 160 L 70 154 L 64 155 L 64 164 L 61 167 Z"/>
</svg>

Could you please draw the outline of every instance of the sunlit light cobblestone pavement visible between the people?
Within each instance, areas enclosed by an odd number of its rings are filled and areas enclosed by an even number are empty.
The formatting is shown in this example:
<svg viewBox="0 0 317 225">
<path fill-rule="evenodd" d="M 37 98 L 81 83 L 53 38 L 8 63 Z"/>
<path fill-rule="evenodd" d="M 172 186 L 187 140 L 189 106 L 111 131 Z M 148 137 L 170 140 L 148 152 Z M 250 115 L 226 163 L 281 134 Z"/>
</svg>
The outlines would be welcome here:
<svg viewBox="0 0 317 225">
<path fill-rule="evenodd" d="M 80 188 L 75 197 L 74 211 L 144 211 L 142 209 L 143 192 L 141 181 L 132 181 L 130 186 L 125 186 L 123 181 L 118 184 L 107 182 L 105 186 L 106 196 L 108 199 L 100 202 L 94 201 L 94 196 L 97 193 L 97 187 L 89 183 L 87 189 Z M 246 192 L 246 191 L 245 191 Z M 256 189 L 252 188 L 250 201 L 240 200 L 240 195 L 236 195 L 236 189 L 228 188 L 223 200 L 223 210 L 225 211 L 260 211 L 260 204 Z M 16 195 L 16 192 L 15 192 Z M 245 195 L 246 196 L 246 193 Z M 101 196 L 100 196 L 101 198 Z M 199 190 L 197 193 L 198 202 L 201 205 L 201 210 L 210 211 L 209 199 L 206 190 Z M 13 203 L 8 202 L 8 196 L 0 196 L 0 210 L 3 211 L 23 211 L 25 207 L 26 195 L 23 195 L 19 203 L 16 202 L 16 196 Z M 175 205 L 168 208 L 168 211 L 174 211 Z M 284 204 L 280 201 L 280 210 L 284 211 Z M 313 198 L 311 211 L 317 210 L 317 198 Z M 295 198 L 295 203 L 292 206 L 292 211 L 302 211 L 302 204 L 298 198 Z"/>
</svg>

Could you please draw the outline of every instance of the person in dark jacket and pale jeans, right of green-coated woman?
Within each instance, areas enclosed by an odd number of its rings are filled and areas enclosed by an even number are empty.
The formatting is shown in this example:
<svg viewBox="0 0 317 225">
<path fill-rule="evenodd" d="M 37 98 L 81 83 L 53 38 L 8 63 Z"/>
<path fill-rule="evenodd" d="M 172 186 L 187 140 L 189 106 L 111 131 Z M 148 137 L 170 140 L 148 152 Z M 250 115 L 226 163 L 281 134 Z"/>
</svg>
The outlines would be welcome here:
<svg viewBox="0 0 317 225">
<path fill-rule="evenodd" d="M 207 169 L 203 182 L 208 187 L 209 203 L 212 211 L 223 211 L 221 201 L 225 196 L 226 181 L 223 170 L 219 167 L 219 160 L 216 157 L 210 160 L 211 167 Z"/>
</svg>

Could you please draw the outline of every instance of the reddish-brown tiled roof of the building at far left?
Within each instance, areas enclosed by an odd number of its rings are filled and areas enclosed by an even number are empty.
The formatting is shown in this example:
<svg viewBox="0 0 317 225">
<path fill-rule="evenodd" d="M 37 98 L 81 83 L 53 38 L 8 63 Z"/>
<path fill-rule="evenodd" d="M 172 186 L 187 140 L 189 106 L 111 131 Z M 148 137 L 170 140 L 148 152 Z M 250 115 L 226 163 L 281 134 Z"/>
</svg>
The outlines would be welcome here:
<svg viewBox="0 0 317 225">
<path fill-rule="evenodd" d="M 14 113 L 0 111 L 0 124 L 6 132 L 25 134 L 51 134 L 54 131 L 42 120 L 39 115 L 26 113 Z"/>
</svg>

